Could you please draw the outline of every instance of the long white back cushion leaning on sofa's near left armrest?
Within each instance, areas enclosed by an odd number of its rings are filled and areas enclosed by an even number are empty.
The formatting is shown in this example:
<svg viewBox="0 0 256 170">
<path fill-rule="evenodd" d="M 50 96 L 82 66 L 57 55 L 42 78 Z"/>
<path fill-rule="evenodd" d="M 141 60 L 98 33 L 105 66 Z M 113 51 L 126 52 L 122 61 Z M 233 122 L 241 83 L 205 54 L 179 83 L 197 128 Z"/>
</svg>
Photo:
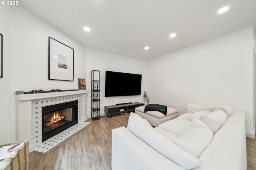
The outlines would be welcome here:
<svg viewBox="0 0 256 170">
<path fill-rule="evenodd" d="M 139 115 L 130 113 L 127 129 L 186 170 L 198 167 L 200 163 L 198 158 L 158 133 L 146 119 L 142 119 Z"/>
</svg>

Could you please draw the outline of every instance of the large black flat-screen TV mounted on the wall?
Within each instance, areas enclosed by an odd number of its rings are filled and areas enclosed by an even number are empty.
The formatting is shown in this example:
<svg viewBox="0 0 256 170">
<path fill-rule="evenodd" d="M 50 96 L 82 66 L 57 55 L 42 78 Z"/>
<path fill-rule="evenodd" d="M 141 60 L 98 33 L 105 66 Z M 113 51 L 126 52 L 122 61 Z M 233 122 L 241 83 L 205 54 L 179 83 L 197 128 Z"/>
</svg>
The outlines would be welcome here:
<svg viewBox="0 0 256 170">
<path fill-rule="evenodd" d="M 140 95 L 141 77 L 141 74 L 106 71 L 105 97 Z"/>
</svg>

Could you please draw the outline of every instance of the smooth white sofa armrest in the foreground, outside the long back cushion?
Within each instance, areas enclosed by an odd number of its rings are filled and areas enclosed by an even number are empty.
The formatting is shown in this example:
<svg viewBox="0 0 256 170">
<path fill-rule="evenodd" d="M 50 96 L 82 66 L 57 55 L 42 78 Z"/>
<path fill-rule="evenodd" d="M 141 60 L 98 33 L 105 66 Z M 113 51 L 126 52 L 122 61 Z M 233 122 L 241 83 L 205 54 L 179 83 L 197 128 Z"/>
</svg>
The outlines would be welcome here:
<svg viewBox="0 0 256 170">
<path fill-rule="evenodd" d="M 131 133 L 126 127 L 112 130 L 112 170 L 184 170 Z"/>
</svg>

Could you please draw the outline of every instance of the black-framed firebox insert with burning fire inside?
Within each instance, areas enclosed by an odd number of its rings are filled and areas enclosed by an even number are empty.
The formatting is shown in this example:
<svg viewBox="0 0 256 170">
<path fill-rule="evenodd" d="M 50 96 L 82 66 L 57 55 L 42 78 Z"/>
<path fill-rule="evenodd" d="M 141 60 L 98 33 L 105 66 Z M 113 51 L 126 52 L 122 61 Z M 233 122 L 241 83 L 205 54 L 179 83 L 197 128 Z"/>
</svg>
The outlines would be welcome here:
<svg viewBox="0 0 256 170">
<path fill-rule="evenodd" d="M 77 124 L 78 101 L 42 107 L 42 142 Z"/>
</svg>

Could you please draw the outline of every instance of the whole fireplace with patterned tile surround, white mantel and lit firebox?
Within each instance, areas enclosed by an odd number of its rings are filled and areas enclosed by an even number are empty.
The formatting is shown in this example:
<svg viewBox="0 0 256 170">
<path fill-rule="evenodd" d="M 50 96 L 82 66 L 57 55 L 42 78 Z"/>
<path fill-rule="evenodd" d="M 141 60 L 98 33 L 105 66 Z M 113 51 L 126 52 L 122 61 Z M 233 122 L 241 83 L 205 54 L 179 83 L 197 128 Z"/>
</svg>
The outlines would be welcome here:
<svg viewBox="0 0 256 170">
<path fill-rule="evenodd" d="M 29 139 L 29 152 L 57 145 L 87 123 L 87 93 L 77 90 L 16 95 L 16 140 Z"/>
</svg>

